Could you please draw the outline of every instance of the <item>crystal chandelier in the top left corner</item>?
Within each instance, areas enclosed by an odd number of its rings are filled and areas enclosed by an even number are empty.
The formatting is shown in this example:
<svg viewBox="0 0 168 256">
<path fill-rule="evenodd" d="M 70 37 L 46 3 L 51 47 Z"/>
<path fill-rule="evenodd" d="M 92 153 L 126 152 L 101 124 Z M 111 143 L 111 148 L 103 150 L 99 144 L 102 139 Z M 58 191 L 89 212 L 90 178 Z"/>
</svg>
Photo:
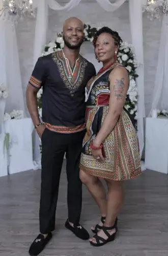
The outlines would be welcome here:
<svg viewBox="0 0 168 256">
<path fill-rule="evenodd" d="M 33 0 L 0 0 L 0 17 L 14 18 L 35 17 Z"/>
</svg>

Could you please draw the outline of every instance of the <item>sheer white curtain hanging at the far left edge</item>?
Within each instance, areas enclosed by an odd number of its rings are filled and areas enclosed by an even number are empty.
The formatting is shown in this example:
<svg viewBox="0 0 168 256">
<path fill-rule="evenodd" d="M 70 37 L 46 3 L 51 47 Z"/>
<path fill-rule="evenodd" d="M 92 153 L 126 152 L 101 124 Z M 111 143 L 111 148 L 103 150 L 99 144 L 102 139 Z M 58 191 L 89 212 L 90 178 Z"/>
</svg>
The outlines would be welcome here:
<svg viewBox="0 0 168 256">
<path fill-rule="evenodd" d="M 10 113 L 15 109 L 24 112 L 15 26 L 11 20 L 5 20 L 3 15 L 0 17 L 0 38 L 0 82 L 9 91 L 5 111 Z"/>
</svg>

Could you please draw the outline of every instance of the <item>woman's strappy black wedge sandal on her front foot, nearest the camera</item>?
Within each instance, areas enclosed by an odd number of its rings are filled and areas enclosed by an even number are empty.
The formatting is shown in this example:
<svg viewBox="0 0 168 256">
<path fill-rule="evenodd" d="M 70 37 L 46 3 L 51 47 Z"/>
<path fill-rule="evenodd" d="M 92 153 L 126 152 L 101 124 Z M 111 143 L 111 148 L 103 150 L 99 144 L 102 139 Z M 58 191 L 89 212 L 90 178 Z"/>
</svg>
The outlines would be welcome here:
<svg viewBox="0 0 168 256">
<path fill-rule="evenodd" d="M 116 225 L 114 225 L 113 227 L 105 227 L 105 226 L 103 226 L 103 227 L 101 228 L 101 230 L 103 230 L 103 232 L 106 234 L 106 236 L 107 236 L 108 238 L 107 238 L 107 239 L 104 239 L 104 238 L 98 236 L 98 234 L 95 234 L 95 236 L 94 236 L 93 238 L 96 239 L 96 243 L 90 241 L 90 244 L 93 245 L 93 246 L 95 246 L 95 247 L 100 247 L 100 246 L 105 245 L 105 244 L 108 243 L 108 242 L 114 241 L 114 240 L 115 240 L 115 237 L 116 237 L 117 230 L 116 230 L 115 233 L 113 233 L 113 234 L 111 234 L 111 235 L 110 235 L 110 234 L 108 233 L 108 231 L 107 231 L 107 230 L 111 230 L 111 229 L 114 229 L 114 228 L 116 229 Z M 101 243 L 101 242 L 102 242 L 102 243 Z"/>
</svg>

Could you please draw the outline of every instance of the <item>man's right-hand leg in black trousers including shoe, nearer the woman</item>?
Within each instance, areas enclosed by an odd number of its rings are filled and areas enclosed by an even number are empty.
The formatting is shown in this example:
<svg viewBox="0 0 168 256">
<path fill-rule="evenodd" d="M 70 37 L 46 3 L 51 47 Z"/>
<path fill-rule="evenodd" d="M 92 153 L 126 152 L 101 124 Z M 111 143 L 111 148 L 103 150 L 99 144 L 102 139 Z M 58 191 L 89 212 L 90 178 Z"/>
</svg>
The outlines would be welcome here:
<svg viewBox="0 0 168 256">
<path fill-rule="evenodd" d="M 79 225 L 82 204 L 82 183 L 79 179 L 79 162 L 82 140 L 85 132 L 71 134 L 67 150 L 67 180 L 68 180 L 68 221 L 66 227 L 77 237 L 87 240 L 87 230 Z"/>
</svg>

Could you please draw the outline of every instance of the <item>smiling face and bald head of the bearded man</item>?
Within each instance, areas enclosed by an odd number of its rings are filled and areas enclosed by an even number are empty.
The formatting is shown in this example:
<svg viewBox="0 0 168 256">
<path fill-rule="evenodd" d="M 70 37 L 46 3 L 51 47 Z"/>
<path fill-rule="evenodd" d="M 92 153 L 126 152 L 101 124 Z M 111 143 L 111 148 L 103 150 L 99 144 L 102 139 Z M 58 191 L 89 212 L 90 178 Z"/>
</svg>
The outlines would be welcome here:
<svg viewBox="0 0 168 256">
<path fill-rule="evenodd" d="M 70 19 L 64 25 L 63 39 L 69 49 L 79 49 L 83 42 L 83 24 L 78 19 Z"/>
</svg>

